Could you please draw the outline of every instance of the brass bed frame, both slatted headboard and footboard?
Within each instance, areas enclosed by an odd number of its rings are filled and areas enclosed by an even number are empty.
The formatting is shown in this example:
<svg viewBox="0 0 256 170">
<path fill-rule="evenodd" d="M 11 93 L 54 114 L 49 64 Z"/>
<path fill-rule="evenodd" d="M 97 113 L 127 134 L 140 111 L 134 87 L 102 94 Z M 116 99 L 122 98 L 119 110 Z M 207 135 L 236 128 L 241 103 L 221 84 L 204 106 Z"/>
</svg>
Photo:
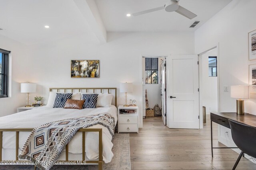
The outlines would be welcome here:
<svg viewBox="0 0 256 170">
<path fill-rule="evenodd" d="M 100 90 L 100 93 L 107 92 L 109 94 L 113 94 L 114 91 L 114 101 L 112 100 L 112 104 L 116 106 L 116 88 L 50 88 L 50 92 L 56 91 L 56 92 L 93 92 L 97 93 Z M 4 160 L 5 162 L 11 162 L 11 161 L 19 161 L 19 162 L 29 162 L 28 160 L 18 160 L 18 154 L 19 154 L 19 132 L 31 132 L 33 128 L 11 128 L 11 129 L 0 129 L 0 161 L 2 161 L 2 145 L 3 145 L 3 132 L 16 132 L 16 160 Z M 89 128 L 89 129 L 79 129 L 79 132 L 82 132 L 82 160 L 68 160 L 68 144 L 66 145 L 66 160 L 65 161 L 58 161 L 58 162 L 80 162 L 80 161 L 86 161 L 86 164 L 98 164 L 98 169 L 102 170 L 103 168 L 103 162 L 102 162 L 102 128 Z M 98 132 L 99 133 L 99 158 L 98 160 L 85 160 L 85 133 L 86 132 Z M 36 170 L 36 166 L 34 166 L 34 169 Z"/>
</svg>

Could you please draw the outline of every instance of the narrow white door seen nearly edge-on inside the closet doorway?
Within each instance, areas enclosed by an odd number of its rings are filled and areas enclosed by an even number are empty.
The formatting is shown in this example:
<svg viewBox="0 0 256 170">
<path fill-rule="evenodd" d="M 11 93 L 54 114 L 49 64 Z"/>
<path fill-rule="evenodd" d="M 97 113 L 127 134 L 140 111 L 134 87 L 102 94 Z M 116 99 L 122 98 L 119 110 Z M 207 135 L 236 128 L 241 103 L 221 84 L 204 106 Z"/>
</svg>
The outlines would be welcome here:
<svg viewBox="0 0 256 170">
<path fill-rule="evenodd" d="M 166 125 L 166 69 L 165 69 L 165 59 L 161 63 L 161 95 L 162 95 L 162 120 L 164 125 Z"/>
</svg>

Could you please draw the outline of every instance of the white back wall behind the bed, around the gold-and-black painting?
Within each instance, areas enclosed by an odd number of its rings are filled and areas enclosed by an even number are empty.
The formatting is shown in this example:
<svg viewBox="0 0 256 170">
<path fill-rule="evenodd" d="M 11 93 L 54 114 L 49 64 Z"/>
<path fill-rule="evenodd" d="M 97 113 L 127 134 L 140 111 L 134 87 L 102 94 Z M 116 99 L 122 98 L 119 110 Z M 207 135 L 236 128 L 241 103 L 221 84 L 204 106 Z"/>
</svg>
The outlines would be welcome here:
<svg viewBox="0 0 256 170">
<path fill-rule="evenodd" d="M 108 33 L 108 43 L 86 43 L 83 36 L 31 47 L 27 79 L 38 84 L 38 93 L 48 98 L 50 87 L 117 87 L 132 82 L 142 113 L 142 55 L 193 54 L 194 33 Z M 70 78 L 70 61 L 99 59 L 100 78 Z M 21 65 L 26 68 L 27 64 Z M 46 103 L 47 100 L 44 100 Z M 142 120 L 140 120 L 142 123 Z"/>
</svg>

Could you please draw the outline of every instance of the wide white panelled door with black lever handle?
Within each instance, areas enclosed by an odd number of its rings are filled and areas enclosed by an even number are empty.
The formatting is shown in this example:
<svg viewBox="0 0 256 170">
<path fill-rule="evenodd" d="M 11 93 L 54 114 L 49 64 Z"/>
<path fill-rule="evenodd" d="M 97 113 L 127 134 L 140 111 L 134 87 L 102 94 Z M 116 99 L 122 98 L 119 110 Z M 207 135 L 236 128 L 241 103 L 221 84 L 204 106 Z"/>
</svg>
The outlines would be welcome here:
<svg viewBox="0 0 256 170">
<path fill-rule="evenodd" d="M 166 58 L 167 126 L 199 129 L 198 56 Z"/>
</svg>

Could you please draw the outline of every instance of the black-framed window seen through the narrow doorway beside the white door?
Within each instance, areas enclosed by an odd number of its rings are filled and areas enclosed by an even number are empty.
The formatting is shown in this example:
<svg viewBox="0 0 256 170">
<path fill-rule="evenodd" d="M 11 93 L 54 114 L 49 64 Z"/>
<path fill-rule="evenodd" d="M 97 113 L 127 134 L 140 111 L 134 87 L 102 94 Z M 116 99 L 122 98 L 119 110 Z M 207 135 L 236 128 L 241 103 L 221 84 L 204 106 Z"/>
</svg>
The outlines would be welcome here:
<svg viewBox="0 0 256 170">
<path fill-rule="evenodd" d="M 158 58 L 145 58 L 145 83 L 158 84 Z"/>
</svg>

